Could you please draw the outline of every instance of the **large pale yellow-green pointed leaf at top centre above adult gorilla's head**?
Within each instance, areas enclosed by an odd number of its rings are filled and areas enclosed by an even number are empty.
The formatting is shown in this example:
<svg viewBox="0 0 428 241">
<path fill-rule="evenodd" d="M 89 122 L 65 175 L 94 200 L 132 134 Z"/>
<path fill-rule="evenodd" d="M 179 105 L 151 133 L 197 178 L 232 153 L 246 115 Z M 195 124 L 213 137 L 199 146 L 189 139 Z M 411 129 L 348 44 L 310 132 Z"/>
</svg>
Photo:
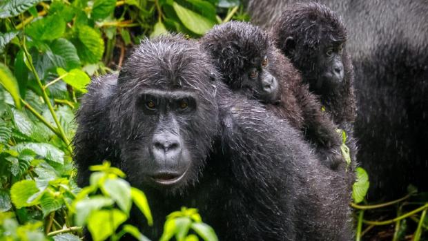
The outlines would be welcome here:
<svg viewBox="0 0 428 241">
<path fill-rule="evenodd" d="M 214 21 L 206 19 L 205 17 L 202 17 L 196 12 L 184 8 L 176 2 L 173 3 L 173 8 L 184 26 L 186 26 L 188 30 L 195 32 L 198 35 L 204 35 L 205 32 L 213 28 L 213 26 L 215 25 Z"/>
</svg>

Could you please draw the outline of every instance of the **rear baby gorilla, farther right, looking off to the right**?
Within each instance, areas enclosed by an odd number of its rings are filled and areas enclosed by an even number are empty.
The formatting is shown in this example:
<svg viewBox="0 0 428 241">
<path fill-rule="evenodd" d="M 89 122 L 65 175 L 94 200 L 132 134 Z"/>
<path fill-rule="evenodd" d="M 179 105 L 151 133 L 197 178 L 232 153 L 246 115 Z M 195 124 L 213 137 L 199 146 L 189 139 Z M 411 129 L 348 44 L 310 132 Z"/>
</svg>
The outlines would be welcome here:
<svg viewBox="0 0 428 241">
<path fill-rule="evenodd" d="M 300 70 L 309 90 L 320 96 L 335 124 L 345 128 L 353 123 L 354 75 L 342 19 L 320 3 L 297 3 L 286 8 L 272 32 L 276 46 Z"/>
</svg>

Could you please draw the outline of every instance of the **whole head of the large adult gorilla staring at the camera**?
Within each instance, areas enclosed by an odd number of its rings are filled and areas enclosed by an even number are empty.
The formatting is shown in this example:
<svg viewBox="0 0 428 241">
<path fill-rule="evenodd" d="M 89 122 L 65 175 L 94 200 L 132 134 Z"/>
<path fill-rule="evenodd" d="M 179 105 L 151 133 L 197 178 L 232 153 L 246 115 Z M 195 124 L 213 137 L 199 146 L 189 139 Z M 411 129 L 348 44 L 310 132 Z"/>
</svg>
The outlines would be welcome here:
<svg viewBox="0 0 428 241">
<path fill-rule="evenodd" d="M 134 186 L 184 190 L 197 182 L 211 151 L 218 130 L 215 70 L 190 43 L 144 41 L 119 73 L 110 118 L 121 168 Z"/>
</svg>

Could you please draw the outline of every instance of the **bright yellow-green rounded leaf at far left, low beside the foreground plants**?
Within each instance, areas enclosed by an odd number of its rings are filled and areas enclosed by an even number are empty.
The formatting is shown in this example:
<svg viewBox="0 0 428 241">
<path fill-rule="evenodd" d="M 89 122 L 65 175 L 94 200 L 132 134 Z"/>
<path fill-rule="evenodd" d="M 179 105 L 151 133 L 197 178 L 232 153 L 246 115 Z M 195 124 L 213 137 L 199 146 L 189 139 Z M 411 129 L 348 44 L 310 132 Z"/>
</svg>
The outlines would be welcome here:
<svg viewBox="0 0 428 241">
<path fill-rule="evenodd" d="M 10 189 L 10 197 L 12 197 L 12 203 L 17 207 L 17 209 L 21 209 L 23 206 L 33 206 L 38 204 L 38 199 L 35 199 L 32 202 L 27 202 L 32 195 L 35 195 L 38 192 L 39 189 L 37 189 L 35 181 L 22 180 L 13 184 Z"/>
</svg>

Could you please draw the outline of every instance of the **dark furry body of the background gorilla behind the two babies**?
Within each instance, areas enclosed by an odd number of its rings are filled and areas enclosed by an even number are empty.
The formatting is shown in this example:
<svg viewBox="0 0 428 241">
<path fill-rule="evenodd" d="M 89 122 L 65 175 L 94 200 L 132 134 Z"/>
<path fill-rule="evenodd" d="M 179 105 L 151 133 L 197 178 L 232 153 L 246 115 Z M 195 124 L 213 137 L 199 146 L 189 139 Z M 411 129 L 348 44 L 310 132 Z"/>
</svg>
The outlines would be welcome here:
<svg viewBox="0 0 428 241">
<path fill-rule="evenodd" d="M 270 27 L 295 0 L 249 0 Z M 319 1 L 342 15 L 356 73 L 358 162 L 369 198 L 393 198 L 407 184 L 428 189 L 428 4 L 426 1 Z"/>
</svg>

